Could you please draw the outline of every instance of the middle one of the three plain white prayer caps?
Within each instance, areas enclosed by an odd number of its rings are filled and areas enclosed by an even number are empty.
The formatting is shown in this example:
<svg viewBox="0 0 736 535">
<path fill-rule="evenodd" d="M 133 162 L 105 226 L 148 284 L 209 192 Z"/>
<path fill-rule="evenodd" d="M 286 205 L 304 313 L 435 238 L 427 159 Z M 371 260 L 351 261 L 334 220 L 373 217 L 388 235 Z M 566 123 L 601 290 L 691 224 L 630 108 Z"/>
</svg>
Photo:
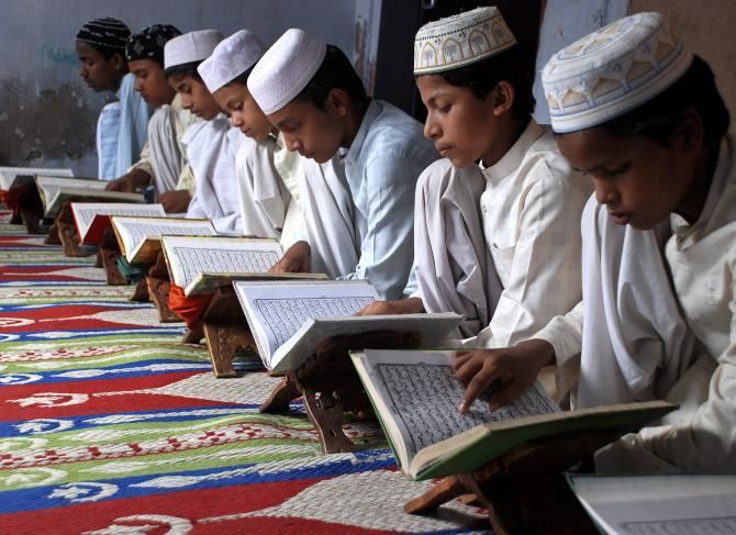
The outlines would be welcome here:
<svg viewBox="0 0 736 535">
<path fill-rule="evenodd" d="M 253 67 L 266 52 L 253 32 L 239 30 L 214 47 L 197 70 L 211 93 Z"/>
</svg>

